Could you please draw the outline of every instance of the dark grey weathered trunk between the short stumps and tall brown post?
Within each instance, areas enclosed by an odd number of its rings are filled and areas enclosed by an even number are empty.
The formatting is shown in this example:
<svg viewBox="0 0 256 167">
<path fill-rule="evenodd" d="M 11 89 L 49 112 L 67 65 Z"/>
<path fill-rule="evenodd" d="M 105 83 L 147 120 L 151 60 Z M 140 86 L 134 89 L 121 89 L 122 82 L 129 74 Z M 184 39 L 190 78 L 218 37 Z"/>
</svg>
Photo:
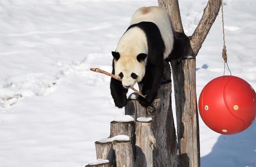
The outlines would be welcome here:
<svg viewBox="0 0 256 167">
<path fill-rule="evenodd" d="M 169 63 L 164 63 L 164 78 L 171 80 Z M 153 150 L 154 167 L 179 167 L 178 144 L 171 109 L 171 82 L 163 84 L 158 90 L 160 107 L 153 118 L 153 134 L 156 146 Z"/>
</svg>

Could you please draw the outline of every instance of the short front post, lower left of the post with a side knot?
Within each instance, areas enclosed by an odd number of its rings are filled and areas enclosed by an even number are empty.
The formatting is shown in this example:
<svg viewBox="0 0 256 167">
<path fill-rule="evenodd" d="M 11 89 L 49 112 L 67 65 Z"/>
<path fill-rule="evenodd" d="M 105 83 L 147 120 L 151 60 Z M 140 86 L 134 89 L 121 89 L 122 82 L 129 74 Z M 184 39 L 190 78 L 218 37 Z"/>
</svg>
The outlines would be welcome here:
<svg viewBox="0 0 256 167">
<path fill-rule="evenodd" d="M 113 141 L 116 167 L 135 167 L 132 143 L 130 141 Z"/>
</svg>

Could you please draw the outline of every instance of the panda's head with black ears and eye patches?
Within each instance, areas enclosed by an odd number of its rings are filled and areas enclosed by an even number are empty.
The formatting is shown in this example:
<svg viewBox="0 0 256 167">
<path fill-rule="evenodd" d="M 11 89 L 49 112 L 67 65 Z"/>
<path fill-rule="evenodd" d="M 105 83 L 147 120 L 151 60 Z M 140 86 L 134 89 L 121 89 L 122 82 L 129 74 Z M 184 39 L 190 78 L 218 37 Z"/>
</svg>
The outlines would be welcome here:
<svg viewBox="0 0 256 167">
<path fill-rule="evenodd" d="M 136 82 L 140 82 L 145 75 L 147 54 L 140 53 L 135 56 L 120 55 L 112 52 L 114 57 L 115 75 L 122 79 L 123 87 L 131 88 Z"/>
</svg>

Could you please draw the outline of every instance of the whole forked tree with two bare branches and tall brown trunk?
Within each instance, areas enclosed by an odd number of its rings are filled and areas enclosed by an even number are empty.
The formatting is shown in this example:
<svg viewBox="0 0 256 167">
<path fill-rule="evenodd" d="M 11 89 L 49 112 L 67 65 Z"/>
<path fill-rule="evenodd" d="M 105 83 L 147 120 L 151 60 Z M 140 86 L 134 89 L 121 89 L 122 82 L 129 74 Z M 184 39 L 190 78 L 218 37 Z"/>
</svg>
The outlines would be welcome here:
<svg viewBox="0 0 256 167">
<path fill-rule="evenodd" d="M 192 36 L 184 33 L 178 0 L 158 0 L 171 18 L 174 46 L 171 53 L 177 115 L 178 145 L 182 167 L 200 166 L 199 125 L 195 85 L 195 59 L 220 10 L 221 0 L 208 0 Z M 176 59 L 176 60 L 173 60 Z M 178 60 L 177 60 L 178 59 Z"/>
</svg>

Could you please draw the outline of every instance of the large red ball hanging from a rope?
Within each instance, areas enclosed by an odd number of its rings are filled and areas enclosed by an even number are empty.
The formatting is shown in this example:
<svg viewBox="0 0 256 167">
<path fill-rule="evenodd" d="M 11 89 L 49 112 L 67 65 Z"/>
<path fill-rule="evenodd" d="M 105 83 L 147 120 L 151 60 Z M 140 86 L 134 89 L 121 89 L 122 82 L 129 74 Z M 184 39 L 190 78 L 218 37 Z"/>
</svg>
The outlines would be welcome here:
<svg viewBox="0 0 256 167">
<path fill-rule="evenodd" d="M 255 119 L 256 93 L 239 77 L 217 77 L 203 88 L 199 113 L 204 123 L 215 132 L 237 134 Z"/>
</svg>

